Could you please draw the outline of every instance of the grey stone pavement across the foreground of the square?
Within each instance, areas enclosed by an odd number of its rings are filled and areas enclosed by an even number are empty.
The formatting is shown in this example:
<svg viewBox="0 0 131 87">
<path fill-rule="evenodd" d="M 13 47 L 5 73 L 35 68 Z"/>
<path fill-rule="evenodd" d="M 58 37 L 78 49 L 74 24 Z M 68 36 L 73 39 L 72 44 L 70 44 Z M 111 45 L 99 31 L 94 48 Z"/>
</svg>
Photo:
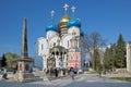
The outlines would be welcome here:
<svg viewBox="0 0 131 87">
<path fill-rule="evenodd" d="M 0 80 L 0 87 L 131 87 L 131 83 L 114 80 L 105 76 L 82 74 L 75 76 L 74 80 L 70 77 L 33 83 Z"/>
</svg>

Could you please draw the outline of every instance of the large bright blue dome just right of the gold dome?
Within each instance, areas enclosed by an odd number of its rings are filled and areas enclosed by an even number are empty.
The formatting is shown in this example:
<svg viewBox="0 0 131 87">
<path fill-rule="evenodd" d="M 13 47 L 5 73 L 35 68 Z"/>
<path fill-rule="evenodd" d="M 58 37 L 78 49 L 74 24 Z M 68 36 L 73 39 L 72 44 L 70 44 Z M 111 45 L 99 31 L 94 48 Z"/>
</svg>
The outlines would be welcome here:
<svg viewBox="0 0 131 87">
<path fill-rule="evenodd" d="M 71 26 L 76 26 L 76 27 L 81 27 L 81 22 L 79 18 L 76 17 L 72 17 L 68 24 L 67 24 L 68 27 L 71 27 Z"/>
</svg>

